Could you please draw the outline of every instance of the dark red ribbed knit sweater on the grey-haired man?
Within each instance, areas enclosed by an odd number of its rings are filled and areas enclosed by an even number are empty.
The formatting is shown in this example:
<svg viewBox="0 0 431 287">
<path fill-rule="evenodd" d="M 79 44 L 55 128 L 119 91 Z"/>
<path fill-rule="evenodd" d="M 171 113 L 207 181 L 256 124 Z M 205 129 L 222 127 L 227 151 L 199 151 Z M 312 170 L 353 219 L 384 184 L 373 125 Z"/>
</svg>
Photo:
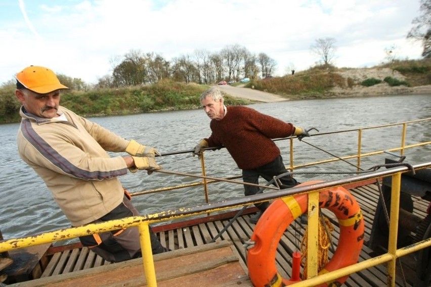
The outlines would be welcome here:
<svg viewBox="0 0 431 287">
<path fill-rule="evenodd" d="M 291 123 L 243 106 L 228 106 L 222 120 L 211 120 L 209 147 L 225 146 L 240 169 L 254 169 L 272 162 L 280 150 L 271 139 L 293 134 Z"/>
</svg>

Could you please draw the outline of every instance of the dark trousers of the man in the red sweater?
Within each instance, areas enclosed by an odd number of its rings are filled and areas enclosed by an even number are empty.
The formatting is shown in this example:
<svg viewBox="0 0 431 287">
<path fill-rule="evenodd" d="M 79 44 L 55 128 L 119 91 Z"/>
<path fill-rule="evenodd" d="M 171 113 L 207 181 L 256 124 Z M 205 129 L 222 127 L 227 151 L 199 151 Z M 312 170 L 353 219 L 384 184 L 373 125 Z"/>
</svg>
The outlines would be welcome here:
<svg viewBox="0 0 431 287">
<path fill-rule="evenodd" d="M 288 170 L 284 167 L 283 164 L 283 158 L 281 156 L 278 156 L 275 160 L 273 160 L 270 163 L 267 163 L 261 167 L 255 168 L 255 169 L 243 169 L 242 170 L 242 180 L 244 182 L 249 183 L 259 183 L 259 176 L 262 176 L 267 181 L 270 181 L 273 179 L 273 176 L 277 176 L 282 173 L 286 173 Z M 299 184 L 296 179 L 294 179 L 291 175 L 286 175 L 279 178 L 280 189 L 290 188 L 297 184 Z M 252 185 L 246 185 L 244 184 L 244 195 L 245 196 L 251 196 L 257 194 L 260 187 L 252 186 Z M 258 203 L 255 204 L 255 206 L 260 209 L 261 211 L 265 211 L 269 203 Z"/>
</svg>

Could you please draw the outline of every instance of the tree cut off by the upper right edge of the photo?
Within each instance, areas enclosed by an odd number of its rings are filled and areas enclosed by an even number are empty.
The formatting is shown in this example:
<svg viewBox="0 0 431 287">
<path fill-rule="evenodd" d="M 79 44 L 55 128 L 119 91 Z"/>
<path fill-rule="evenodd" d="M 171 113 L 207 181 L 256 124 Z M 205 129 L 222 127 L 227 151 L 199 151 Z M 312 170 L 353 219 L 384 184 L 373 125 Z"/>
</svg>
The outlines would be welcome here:
<svg viewBox="0 0 431 287">
<path fill-rule="evenodd" d="M 414 26 L 407 38 L 422 41 L 422 57 L 431 58 L 431 0 L 420 0 L 420 16 L 413 19 Z"/>
</svg>

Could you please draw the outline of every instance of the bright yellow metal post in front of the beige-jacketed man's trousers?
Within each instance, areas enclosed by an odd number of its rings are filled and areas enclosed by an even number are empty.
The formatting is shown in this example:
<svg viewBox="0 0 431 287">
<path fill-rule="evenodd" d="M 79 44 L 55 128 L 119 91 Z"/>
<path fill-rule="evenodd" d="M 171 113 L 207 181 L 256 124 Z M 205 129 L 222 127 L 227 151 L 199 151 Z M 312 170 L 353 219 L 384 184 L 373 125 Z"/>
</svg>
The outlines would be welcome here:
<svg viewBox="0 0 431 287">
<path fill-rule="evenodd" d="M 139 227 L 139 240 L 141 242 L 142 261 L 148 287 L 156 287 L 156 269 L 154 268 L 153 251 L 151 250 L 150 228 L 148 222 L 142 222 Z"/>
</svg>

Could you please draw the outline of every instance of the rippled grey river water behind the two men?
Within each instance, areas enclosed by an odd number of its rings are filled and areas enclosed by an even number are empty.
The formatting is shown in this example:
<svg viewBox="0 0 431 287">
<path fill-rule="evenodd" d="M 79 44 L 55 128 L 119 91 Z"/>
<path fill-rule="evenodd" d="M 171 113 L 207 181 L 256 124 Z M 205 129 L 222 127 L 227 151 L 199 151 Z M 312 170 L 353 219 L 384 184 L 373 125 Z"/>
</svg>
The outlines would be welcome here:
<svg viewBox="0 0 431 287">
<path fill-rule="evenodd" d="M 385 97 L 325 99 L 305 101 L 284 101 L 276 103 L 253 104 L 252 107 L 262 113 L 272 115 L 281 120 L 291 122 L 298 127 L 316 127 L 320 132 L 346 130 L 381 124 L 397 123 L 431 117 L 431 95 L 394 95 Z M 146 113 L 128 116 L 112 116 L 89 118 L 125 138 L 134 138 L 138 142 L 151 145 L 162 154 L 192 150 L 194 146 L 210 134 L 209 118 L 202 110 L 171 111 Z M 44 182 L 18 156 L 16 133 L 19 124 L 0 125 L 2 145 L 0 145 L 0 195 L 2 212 L 0 229 L 5 239 L 33 235 L 69 227 L 70 224 L 54 202 Z M 391 145 L 392 137 L 397 142 Z M 406 145 L 417 141 L 431 140 L 431 123 L 414 124 L 408 129 L 410 138 Z M 316 139 L 315 139 L 316 138 Z M 357 133 L 351 135 L 334 134 L 321 140 L 311 137 L 307 141 L 330 151 L 335 155 L 356 154 Z M 390 129 L 381 131 L 364 131 L 363 152 L 367 149 L 384 150 L 399 146 L 401 130 Z M 382 140 L 383 139 L 383 140 Z M 366 142 L 365 142 L 366 141 Z M 284 141 L 277 141 L 282 150 L 286 165 L 288 164 L 288 148 Z M 295 140 L 294 164 L 306 163 L 328 158 L 328 155 L 313 147 Z M 387 146 L 390 145 L 390 146 Z M 380 148 L 381 147 L 381 148 Z M 112 156 L 116 156 L 112 154 Z M 407 160 L 412 164 L 431 161 L 431 147 L 422 148 L 421 152 L 406 152 Z M 197 157 L 191 153 L 174 156 L 162 156 L 157 161 L 166 170 L 184 173 L 200 173 Z M 205 152 L 207 175 L 228 177 L 240 175 L 240 170 L 225 149 Z M 355 163 L 355 162 L 354 162 Z M 367 169 L 382 162 L 366 162 Z M 309 168 L 311 169 L 311 168 Z M 336 166 L 321 171 L 355 170 L 346 163 L 339 162 Z M 308 179 L 331 179 L 330 175 L 300 175 L 299 181 Z M 340 176 L 338 176 L 340 177 Z M 185 184 L 199 180 L 197 178 L 173 174 L 153 173 L 145 171 L 121 176 L 123 186 L 131 193 L 146 189 Z M 239 179 L 240 180 L 240 179 Z M 265 184 L 265 181 L 263 182 Z M 238 198 L 243 196 L 240 184 L 216 183 L 209 186 L 209 201 Z M 185 188 L 164 193 L 134 197 L 133 202 L 141 213 L 154 213 L 194 206 L 204 203 L 202 188 Z"/>
</svg>

